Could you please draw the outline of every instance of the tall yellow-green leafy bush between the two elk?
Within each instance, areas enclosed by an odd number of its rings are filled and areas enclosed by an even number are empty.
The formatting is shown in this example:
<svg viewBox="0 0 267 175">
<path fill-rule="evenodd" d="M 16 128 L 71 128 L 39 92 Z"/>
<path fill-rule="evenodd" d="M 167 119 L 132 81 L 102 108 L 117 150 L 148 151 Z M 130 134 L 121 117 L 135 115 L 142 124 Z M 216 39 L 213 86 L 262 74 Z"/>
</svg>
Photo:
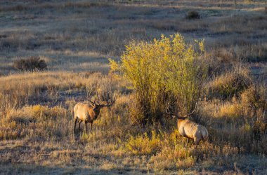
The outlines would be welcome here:
<svg viewBox="0 0 267 175">
<path fill-rule="evenodd" d="M 166 94 L 175 97 L 183 112 L 197 99 L 206 76 L 203 41 L 186 44 L 181 34 L 152 43 L 132 42 L 126 45 L 121 62 L 110 59 L 111 71 L 120 71 L 131 82 L 144 116 L 161 115 Z"/>
</svg>

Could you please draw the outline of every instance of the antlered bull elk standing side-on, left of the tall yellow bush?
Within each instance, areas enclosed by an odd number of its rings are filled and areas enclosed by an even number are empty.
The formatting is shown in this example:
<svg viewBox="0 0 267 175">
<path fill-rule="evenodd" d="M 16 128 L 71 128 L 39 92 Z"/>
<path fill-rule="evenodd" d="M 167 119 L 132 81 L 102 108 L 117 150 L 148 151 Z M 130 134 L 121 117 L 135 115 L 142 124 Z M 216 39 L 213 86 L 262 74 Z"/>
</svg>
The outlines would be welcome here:
<svg viewBox="0 0 267 175">
<path fill-rule="evenodd" d="M 79 130 L 81 130 L 81 123 L 84 122 L 84 126 L 86 128 L 87 133 L 87 123 L 91 123 L 91 132 L 93 132 L 93 121 L 98 118 L 100 113 L 100 109 L 106 106 L 111 106 L 114 104 L 116 97 L 111 94 L 110 91 L 106 90 L 100 94 L 98 97 L 98 93 L 96 93 L 97 98 L 93 101 L 91 100 L 93 94 L 93 88 L 90 92 L 87 92 L 88 100 L 91 104 L 84 104 L 82 102 L 77 103 L 74 106 L 74 132 L 76 129 L 76 124 L 79 120 Z M 102 102 L 100 102 L 100 99 Z"/>
</svg>

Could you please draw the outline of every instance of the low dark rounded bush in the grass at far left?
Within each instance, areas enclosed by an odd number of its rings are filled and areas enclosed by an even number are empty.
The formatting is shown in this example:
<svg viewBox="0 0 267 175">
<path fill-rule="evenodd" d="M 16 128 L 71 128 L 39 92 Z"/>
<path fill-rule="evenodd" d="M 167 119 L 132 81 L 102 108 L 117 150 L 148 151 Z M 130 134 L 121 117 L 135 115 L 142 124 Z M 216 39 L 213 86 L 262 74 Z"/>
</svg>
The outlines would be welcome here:
<svg viewBox="0 0 267 175">
<path fill-rule="evenodd" d="M 14 68 L 19 71 L 44 71 L 47 69 L 47 64 L 40 57 L 30 57 L 27 59 L 15 60 Z"/>
</svg>

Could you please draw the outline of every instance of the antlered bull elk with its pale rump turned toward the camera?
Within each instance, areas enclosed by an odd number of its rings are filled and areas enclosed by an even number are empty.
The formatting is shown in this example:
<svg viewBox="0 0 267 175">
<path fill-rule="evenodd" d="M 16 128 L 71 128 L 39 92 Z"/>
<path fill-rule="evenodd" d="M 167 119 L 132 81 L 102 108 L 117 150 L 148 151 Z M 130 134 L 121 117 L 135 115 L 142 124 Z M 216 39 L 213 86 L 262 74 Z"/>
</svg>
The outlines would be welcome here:
<svg viewBox="0 0 267 175">
<path fill-rule="evenodd" d="M 195 109 L 196 108 L 197 105 L 195 105 Z M 170 114 L 173 118 L 178 118 L 177 122 L 178 132 L 183 137 L 188 138 L 188 141 L 189 139 L 193 139 L 195 145 L 198 145 L 201 140 L 204 141 L 208 138 L 208 131 L 206 127 L 198 125 L 197 123 L 193 123 L 192 121 L 186 119 L 189 116 L 193 115 L 193 113 L 195 113 L 195 109 L 191 113 L 181 117 L 178 116 L 176 113 L 171 112 L 171 110 L 169 109 L 169 103 L 167 102 L 166 113 Z"/>
</svg>

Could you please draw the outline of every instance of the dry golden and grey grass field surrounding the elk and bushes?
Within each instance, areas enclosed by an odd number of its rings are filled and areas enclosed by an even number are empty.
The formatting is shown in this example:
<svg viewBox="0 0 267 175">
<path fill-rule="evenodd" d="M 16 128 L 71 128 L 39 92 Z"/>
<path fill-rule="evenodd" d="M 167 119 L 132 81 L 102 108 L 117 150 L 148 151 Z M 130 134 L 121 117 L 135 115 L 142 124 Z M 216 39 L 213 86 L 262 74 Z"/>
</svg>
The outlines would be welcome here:
<svg viewBox="0 0 267 175">
<path fill-rule="evenodd" d="M 1 0 L 0 24 L 0 174 L 267 174 L 266 1 Z M 198 146 L 167 115 L 138 124 L 136 90 L 110 72 L 125 45 L 176 33 L 204 39 Z M 29 57 L 47 70 L 14 68 Z M 117 100 L 73 133 L 94 86 Z"/>
</svg>

